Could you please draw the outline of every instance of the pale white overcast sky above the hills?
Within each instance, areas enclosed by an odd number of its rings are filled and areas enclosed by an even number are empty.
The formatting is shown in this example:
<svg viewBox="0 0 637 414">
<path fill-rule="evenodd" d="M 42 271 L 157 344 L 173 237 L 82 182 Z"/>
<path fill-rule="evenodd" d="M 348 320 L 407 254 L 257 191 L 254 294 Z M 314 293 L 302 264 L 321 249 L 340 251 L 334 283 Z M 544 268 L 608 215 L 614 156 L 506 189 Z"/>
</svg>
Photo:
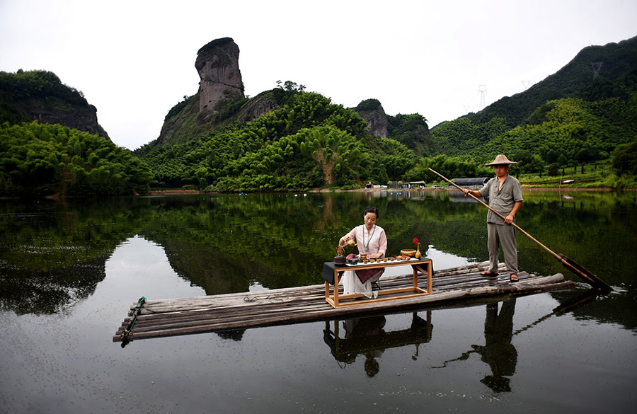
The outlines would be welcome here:
<svg viewBox="0 0 637 414">
<path fill-rule="evenodd" d="M 119 146 L 197 93 L 197 50 L 239 45 L 247 96 L 294 81 L 351 108 L 454 120 L 637 35 L 635 0 L 0 0 L 0 71 L 52 71 Z"/>
</svg>

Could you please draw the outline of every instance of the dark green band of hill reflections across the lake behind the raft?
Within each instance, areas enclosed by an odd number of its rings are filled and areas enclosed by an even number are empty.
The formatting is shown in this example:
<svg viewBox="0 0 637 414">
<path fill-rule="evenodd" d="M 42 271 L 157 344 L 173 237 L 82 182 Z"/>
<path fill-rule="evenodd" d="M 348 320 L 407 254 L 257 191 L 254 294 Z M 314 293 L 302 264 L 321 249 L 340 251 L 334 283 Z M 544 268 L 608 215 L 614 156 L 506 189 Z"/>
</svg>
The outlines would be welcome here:
<svg viewBox="0 0 637 414">
<path fill-rule="evenodd" d="M 105 260 L 135 235 L 161 246 L 178 277 L 207 294 L 246 292 L 255 283 L 266 289 L 318 284 L 335 241 L 359 224 L 370 204 L 381 210 L 391 254 L 413 247 L 418 237 L 432 254 L 464 260 L 449 267 L 487 260 L 483 207 L 453 198 L 441 190 L 4 200 L 0 306 L 20 314 L 73 306 L 95 292 L 106 277 Z M 558 192 L 525 192 L 524 199 L 522 228 L 619 287 L 619 294 L 596 305 L 595 315 L 637 326 L 636 318 L 619 311 L 637 297 L 630 259 L 637 246 L 637 195 L 579 192 L 565 199 Z M 517 241 L 520 268 L 565 272 L 532 241 Z M 440 263 L 434 267 L 441 269 Z"/>
</svg>

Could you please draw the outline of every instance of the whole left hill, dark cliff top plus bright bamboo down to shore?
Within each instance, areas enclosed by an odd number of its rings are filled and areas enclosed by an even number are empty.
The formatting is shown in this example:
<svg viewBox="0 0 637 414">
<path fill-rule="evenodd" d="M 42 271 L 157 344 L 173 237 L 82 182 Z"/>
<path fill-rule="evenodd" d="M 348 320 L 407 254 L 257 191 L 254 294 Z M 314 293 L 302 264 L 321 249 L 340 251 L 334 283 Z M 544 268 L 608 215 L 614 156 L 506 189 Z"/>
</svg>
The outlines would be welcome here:
<svg viewBox="0 0 637 414">
<path fill-rule="evenodd" d="M 81 92 L 50 71 L 0 72 L 0 197 L 142 193 L 152 178 Z"/>
</svg>

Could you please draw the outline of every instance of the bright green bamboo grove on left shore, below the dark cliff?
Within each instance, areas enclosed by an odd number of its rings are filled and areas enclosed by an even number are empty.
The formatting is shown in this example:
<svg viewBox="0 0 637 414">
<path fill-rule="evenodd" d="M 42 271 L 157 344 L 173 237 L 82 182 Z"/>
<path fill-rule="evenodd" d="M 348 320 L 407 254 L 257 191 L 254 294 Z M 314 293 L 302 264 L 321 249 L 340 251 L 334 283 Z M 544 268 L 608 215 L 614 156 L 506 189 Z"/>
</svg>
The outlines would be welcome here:
<svg viewBox="0 0 637 414">
<path fill-rule="evenodd" d="M 98 135 L 37 121 L 0 126 L 5 195 L 147 192 L 152 174 L 127 149 Z"/>
</svg>

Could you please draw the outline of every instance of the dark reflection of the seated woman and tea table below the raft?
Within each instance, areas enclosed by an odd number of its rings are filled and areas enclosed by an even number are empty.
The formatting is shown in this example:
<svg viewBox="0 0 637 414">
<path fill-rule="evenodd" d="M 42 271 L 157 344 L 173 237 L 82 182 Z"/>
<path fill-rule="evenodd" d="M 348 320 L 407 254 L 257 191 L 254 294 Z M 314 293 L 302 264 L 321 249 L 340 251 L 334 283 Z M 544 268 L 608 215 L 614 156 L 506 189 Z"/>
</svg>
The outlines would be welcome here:
<svg viewBox="0 0 637 414">
<path fill-rule="evenodd" d="M 416 360 L 420 344 L 431 340 L 431 311 L 427 311 L 426 319 L 420 318 L 416 312 L 411 317 L 409 328 L 391 332 L 384 330 L 384 315 L 326 321 L 323 341 L 330 347 L 334 359 L 345 365 L 353 364 L 358 356 L 365 357 L 365 373 L 375 376 L 380 371 L 377 359 L 387 348 L 415 345 L 412 358 Z M 333 323 L 332 329 L 330 322 Z M 343 333 L 340 333 L 341 327 Z"/>
</svg>

